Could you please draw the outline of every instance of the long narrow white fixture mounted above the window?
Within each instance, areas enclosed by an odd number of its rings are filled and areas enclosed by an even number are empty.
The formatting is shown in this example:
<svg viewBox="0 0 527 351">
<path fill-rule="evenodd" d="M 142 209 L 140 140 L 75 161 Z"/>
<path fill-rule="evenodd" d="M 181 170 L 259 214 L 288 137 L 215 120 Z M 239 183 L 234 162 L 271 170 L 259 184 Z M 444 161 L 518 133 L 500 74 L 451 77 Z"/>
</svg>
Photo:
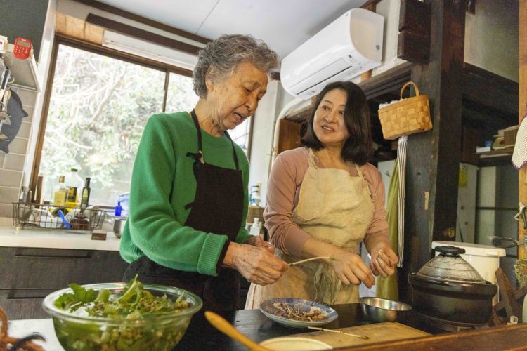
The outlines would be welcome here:
<svg viewBox="0 0 527 351">
<path fill-rule="evenodd" d="M 124 34 L 104 31 L 103 46 L 131 53 L 142 58 L 148 58 L 168 65 L 189 69 L 192 71 L 197 62 L 197 56 L 183 51 L 177 51 L 166 46 L 143 41 Z"/>
</svg>

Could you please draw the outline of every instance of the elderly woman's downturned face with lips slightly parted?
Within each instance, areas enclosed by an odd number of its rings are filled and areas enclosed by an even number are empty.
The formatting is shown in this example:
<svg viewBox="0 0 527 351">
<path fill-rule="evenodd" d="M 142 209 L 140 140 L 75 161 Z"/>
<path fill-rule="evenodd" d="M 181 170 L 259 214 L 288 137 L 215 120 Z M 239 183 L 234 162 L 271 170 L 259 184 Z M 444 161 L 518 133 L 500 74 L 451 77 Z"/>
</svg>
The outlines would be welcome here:
<svg viewBox="0 0 527 351">
<path fill-rule="evenodd" d="M 254 114 L 266 93 L 267 74 L 250 62 L 243 62 L 232 75 L 214 79 L 214 70 L 206 79 L 207 105 L 217 130 L 234 129 Z"/>
</svg>

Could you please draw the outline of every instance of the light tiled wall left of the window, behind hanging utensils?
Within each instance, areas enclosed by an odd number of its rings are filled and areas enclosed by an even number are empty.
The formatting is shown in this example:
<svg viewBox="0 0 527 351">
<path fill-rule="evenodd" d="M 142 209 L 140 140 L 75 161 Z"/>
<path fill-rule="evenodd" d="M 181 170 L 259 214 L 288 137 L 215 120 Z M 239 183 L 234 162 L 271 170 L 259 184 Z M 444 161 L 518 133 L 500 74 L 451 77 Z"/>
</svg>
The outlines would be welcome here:
<svg viewBox="0 0 527 351">
<path fill-rule="evenodd" d="M 37 100 L 36 92 L 19 88 L 11 88 L 11 91 L 20 96 L 22 107 L 28 116 L 22 119 L 22 126 L 18 134 L 9 144 L 9 153 L 0 151 L 0 217 L 11 217 L 13 211 L 11 203 L 18 201 L 34 105 Z"/>
</svg>

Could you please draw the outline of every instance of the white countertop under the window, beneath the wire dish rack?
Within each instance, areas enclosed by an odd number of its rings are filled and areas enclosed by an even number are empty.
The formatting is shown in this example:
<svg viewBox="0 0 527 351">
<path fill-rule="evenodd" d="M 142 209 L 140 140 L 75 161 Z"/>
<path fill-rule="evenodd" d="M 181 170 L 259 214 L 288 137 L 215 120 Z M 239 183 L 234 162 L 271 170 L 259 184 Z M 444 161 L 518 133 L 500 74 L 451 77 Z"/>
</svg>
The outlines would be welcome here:
<svg viewBox="0 0 527 351">
<path fill-rule="evenodd" d="M 112 232 L 107 232 L 106 240 L 92 240 L 91 233 L 86 231 L 20 229 L 4 221 L 0 223 L 0 246 L 119 251 L 119 239 Z"/>
</svg>

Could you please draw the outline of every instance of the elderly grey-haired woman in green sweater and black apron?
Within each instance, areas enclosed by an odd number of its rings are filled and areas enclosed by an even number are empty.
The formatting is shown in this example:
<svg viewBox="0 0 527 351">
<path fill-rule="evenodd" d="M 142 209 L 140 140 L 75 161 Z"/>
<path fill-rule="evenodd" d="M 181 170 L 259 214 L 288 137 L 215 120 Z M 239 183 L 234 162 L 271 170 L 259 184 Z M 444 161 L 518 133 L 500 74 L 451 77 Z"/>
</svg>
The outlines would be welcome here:
<svg viewBox="0 0 527 351">
<path fill-rule="evenodd" d="M 266 93 L 276 53 L 253 37 L 222 35 L 200 50 L 194 110 L 155 114 L 131 179 L 121 256 L 124 280 L 188 289 L 211 310 L 238 307 L 238 272 L 273 284 L 287 265 L 245 230 L 249 163 L 230 140 Z"/>
</svg>

